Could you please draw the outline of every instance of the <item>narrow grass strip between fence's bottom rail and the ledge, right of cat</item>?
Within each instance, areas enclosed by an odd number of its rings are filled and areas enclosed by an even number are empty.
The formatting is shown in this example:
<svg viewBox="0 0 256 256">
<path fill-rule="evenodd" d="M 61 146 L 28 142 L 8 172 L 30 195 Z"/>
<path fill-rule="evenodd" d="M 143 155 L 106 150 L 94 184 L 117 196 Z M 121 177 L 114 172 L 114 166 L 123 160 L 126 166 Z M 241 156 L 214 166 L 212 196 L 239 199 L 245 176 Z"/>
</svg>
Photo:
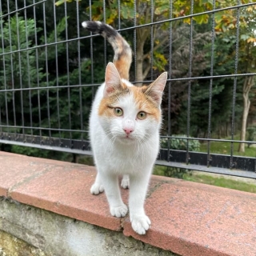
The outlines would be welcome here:
<svg viewBox="0 0 256 256">
<path fill-rule="evenodd" d="M 190 182 L 200 182 L 213 186 L 222 186 L 233 190 L 241 190 L 250 193 L 256 193 L 256 185 L 247 182 L 237 181 L 231 178 L 218 178 L 210 174 L 193 174 L 193 172 L 188 172 L 186 170 L 178 170 L 177 168 L 173 168 L 170 170 L 173 170 L 173 172 L 169 172 L 169 174 L 172 173 L 173 176 L 171 177 L 174 178 L 182 178 Z M 166 166 L 155 166 L 153 174 L 165 176 Z"/>
</svg>

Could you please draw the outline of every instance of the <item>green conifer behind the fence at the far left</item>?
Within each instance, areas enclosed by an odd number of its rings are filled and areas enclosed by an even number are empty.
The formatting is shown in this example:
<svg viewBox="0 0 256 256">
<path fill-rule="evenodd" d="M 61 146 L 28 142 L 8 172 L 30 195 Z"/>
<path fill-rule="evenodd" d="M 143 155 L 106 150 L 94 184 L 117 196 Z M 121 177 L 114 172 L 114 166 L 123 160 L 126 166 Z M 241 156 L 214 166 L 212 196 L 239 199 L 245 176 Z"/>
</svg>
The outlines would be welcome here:
<svg viewBox="0 0 256 256">
<path fill-rule="evenodd" d="M 30 90 L 29 94 L 24 91 L 15 92 L 22 86 L 31 88 L 38 86 L 38 81 L 46 76 L 42 67 L 37 69 L 37 59 L 34 50 L 18 52 L 33 45 L 33 36 L 40 29 L 35 28 L 33 19 L 24 20 L 20 17 L 12 17 L 9 22 L 1 21 L 2 33 L 0 34 L 0 48 L 2 68 L 0 75 L 3 79 L 0 81 L 0 87 L 8 90 L 6 94 L 0 95 L 0 106 L 5 109 L 6 122 L 14 125 L 24 126 L 24 116 L 28 113 L 32 104 L 31 98 L 35 91 Z M 14 51 L 14 53 L 12 53 Z M 42 85 L 43 86 L 43 85 Z M 11 91 L 13 90 L 13 91 Z M 32 114 L 32 113 L 31 113 Z M 12 120 L 12 121 L 11 121 Z M 30 120 L 30 118 L 28 118 Z"/>
</svg>

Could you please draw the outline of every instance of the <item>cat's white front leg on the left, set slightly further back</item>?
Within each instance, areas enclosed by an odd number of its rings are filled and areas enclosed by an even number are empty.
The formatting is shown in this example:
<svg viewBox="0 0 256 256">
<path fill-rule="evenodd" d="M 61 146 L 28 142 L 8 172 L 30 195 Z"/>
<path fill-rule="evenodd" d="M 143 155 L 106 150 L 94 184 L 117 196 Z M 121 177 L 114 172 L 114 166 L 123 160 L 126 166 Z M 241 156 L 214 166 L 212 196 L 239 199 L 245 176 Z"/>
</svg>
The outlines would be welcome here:
<svg viewBox="0 0 256 256">
<path fill-rule="evenodd" d="M 101 178 L 105 188 L 106 198 L 110 205 L 110 214 L 118 218 L 125 217 L 128 208 L 122 202 L 118 186 L 118 175 L 109 173 L 101 174 Z"/>
</svg>

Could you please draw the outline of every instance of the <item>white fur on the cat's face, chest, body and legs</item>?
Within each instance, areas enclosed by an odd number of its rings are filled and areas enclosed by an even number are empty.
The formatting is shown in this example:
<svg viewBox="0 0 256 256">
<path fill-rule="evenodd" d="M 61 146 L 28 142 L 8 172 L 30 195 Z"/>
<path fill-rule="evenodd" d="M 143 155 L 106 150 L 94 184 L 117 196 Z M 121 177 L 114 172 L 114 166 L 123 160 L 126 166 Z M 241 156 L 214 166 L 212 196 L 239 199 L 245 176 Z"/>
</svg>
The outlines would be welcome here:
<svg viewBox="0 0 256 256">
<path fill-rule="evenodd" d="M 123 80 L 127 86 L 133 86 Z M 150 218 L 144 211 L 146 190 L 150 174 L 159 150 L 160 122 L 154 118 L 139 120 L 138 108 L 132 94 L 119 98 L 116 106 L 123 110 L 122 117 L 106 118 L 98 115 L 98 107 L 104 95 L 105 83 L 98 88 L 90 114 L 90 142 L 98 174 L 91 187 L 92 194 L 103 190 L 110 205 L 110 213 L 118 218 L 127 214 L 122 202 L 118 175 L 124 175 L 122 187 L 130 188 L 130 222 L 135 232 L 145 234 Z M 160 107 L 159 107 L 160 110 Z M 126 138 L 124 126 L 132 126 L 133 132 Z M 129 180 L 130 178 L 130 180 Z"/>
</svg>

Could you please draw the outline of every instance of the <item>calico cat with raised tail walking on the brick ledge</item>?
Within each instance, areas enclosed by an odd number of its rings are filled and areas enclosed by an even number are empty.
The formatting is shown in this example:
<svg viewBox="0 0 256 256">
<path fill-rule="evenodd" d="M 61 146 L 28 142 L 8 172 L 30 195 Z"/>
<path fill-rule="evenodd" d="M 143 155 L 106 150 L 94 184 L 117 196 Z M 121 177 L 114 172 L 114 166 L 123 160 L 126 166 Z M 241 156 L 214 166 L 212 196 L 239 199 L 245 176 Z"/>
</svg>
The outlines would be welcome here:
<svg viewBox="0 0 256 256">
<path fill-rule="evenodd" d="M 118 186 L 118 175 L 123 175 L 122 188 L 130 188 L 131 226 L 138 234 L 146 234 L 151 223 L 144 201 L 159 150 L 167 73 L 150 86 L 134 86 L 128 81 L 132 50 L 121 34 L 102 22 L 82 22 L 82 26 L 102 34 L 114 49 L 114 62 L 106 66 L 105 82 L 98 88 L 90 113 L 90 143 L 98 170 L 90 193 L 105 190 L 110 213 L 126 216 L 128 208 Z"/>
</svg>

